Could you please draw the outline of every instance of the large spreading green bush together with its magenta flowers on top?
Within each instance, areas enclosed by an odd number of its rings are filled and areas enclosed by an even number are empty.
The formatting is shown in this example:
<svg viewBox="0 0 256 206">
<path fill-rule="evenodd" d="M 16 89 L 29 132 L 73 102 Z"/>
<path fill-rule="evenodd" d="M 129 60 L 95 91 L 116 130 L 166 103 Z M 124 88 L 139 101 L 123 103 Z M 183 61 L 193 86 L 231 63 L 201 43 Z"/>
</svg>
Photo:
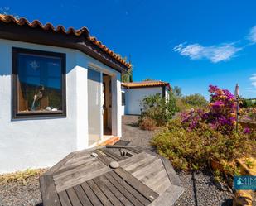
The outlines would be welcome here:
<svg viewBox="0 0 256 206">
<path fill-rule="evenodd" d="M 171 159 L 177 169 L 203 169 L 210 162 L 229 162 L 246 155 L 255 156 L 256 133 L 239 126 L 235 132 L 234 95 L 226 89 L 210 85 L 208 110 L 192 109 L 182 113 L 181 119 L 168 123 L 158 133 L 152 145 L 162 156 Z M 235 165 L 225 164 L 229 174 L 237 171 Z"/>
</svg>

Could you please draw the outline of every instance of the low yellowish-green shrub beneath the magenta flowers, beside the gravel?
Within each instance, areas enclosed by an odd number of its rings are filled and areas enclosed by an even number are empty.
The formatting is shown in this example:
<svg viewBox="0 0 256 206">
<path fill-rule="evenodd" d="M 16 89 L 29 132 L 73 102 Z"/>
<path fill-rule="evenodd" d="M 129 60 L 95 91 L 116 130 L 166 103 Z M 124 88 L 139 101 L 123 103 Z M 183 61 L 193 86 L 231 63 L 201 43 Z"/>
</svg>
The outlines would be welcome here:
<svg viewBox="0 0 256 206">
<path fill-rule="evenodd" d="M 255 148 L 255 134 L 222 134 L 205 123 L 189 131 L 181 120 L 168 123 L 164 132 L 158 133 L 152 140 L 160 155 L 166 156 L 180 170 L 200 170 L 207 167 L 210 160 L 229 162 Z"/>
</svg>

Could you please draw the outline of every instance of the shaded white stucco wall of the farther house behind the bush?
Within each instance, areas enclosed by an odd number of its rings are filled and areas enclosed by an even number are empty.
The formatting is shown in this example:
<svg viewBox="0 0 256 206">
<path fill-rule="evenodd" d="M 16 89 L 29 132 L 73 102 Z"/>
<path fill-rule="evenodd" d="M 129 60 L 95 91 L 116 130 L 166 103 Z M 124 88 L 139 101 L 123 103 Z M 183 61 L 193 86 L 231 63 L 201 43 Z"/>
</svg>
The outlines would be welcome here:
<svg viewBox="0 0 256 206">
<path fill-rule="evenodd" d="M 162 87 L 126 89 L 125 114 L 140 114 L 142 99 L 156 93 L 162 93 Z"/>
</svg>

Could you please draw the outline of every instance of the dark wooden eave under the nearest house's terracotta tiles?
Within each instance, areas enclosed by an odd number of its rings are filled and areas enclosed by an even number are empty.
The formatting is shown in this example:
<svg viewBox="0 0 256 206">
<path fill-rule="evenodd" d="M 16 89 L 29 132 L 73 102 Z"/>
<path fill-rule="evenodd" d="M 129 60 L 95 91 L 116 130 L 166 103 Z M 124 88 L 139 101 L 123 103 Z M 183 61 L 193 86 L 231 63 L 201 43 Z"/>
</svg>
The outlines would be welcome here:
<svg viewBox="0 0 256 206">
<path fill-rule="evenodd" d="M 56 33 L 55 31 L 42 31 L 40 28 L 19 26 L 13 22 L 0 22 L 0 38 L 80 50 L 86 55 L 99 60 L 104 65 L 107 65 L 118 72 L 130 69 L 103 50 L 100 50 L 98 46 L 95 46 L 87 39 L 87 36 L 70 36 L 63 32 Z"/>
</svg>

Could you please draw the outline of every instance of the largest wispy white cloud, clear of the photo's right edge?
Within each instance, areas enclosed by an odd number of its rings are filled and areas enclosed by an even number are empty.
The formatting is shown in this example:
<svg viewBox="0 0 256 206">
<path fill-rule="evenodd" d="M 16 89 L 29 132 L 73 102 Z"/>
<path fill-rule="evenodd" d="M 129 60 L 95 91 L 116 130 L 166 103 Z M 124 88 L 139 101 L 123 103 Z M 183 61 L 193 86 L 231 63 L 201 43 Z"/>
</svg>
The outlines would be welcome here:
<svg viewBox="0 0 256 206">
<path fill-rule="evenodd" d="M 180 55 L 191 58 L 191 60 L 207 59 L 217 63 L 230 60 L 242 48 L 234 46 L 234 43 L 225 43 L 219 46 L 201 46 L 197 43 L 186 45 L 185 42 L 175 46 L 173 50 L 180 53 Z"/>
</svg>

